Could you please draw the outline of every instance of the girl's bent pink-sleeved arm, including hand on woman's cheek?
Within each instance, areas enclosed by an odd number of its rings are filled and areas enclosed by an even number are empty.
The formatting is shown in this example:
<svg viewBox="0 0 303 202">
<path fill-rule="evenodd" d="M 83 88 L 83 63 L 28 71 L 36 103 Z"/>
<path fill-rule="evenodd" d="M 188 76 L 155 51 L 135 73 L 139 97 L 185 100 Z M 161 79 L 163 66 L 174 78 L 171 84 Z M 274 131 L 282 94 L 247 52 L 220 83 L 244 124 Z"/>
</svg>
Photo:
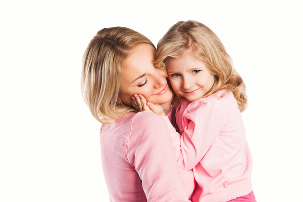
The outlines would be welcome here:
<svg viewBox="0 0 303 202">
<path fill-rule="evenodd" d="M 136 110 L 157 114 L 157 106 L 146 106 L 142 95 L 134 95 L 132 99 Z M 184 170 L 191 170 L 201 161 L 223 128 L 223 116 L 213 103 L 202 103 L 195 111 L 182 117 L 182 135 L 178 135 L 167 116 L 163 118 L 170 130 L 179 167 Z"/>
</svg>

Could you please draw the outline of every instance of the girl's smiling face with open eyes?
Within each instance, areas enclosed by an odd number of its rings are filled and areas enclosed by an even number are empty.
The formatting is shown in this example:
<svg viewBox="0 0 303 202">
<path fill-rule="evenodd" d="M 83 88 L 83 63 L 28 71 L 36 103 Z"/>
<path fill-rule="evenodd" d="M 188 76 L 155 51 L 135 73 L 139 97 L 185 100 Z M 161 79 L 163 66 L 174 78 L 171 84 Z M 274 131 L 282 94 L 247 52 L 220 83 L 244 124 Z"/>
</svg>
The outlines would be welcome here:
<svg viewBox="0 0 303 202">
<path fill-rule="evenodd" d="M 193 102 L 203 97 L 214 85 L 215 76 L 204 63 L 186 51 L 180 58 L 167 61 L 167 73 L 173 90 Z"/>
</svg>

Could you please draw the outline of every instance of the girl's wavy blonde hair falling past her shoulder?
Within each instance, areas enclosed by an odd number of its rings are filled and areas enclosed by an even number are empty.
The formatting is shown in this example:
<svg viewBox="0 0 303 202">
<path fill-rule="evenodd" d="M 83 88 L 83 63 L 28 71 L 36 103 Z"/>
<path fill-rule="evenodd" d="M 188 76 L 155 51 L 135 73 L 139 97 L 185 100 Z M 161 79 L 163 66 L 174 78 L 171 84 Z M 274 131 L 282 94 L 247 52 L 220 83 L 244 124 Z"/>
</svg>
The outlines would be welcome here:
<svg viewBox="0 0 303 202">
<path fill-rule="evenodd" d="M 247 105 L 246 87 L 232 67 L 231 58 L 218 36 L 202 23 L 179 21 L 158 42 L 155 66 L 166 69 L 168 59 L 179 58 L 185 51 L 203 61 L 215 76 L 213 87 L 203 97 L 227 89 L 234 94 L 239 110 L 244 111 Z"/>
</svg>

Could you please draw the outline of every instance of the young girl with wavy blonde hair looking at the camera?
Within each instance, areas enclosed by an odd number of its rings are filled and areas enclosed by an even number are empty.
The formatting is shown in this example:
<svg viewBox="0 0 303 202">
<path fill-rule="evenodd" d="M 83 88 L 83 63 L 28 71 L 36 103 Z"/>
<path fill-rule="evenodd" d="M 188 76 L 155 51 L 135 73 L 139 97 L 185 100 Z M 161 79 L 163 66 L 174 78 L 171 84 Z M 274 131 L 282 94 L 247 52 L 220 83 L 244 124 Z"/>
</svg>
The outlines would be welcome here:
<svg viewBox="0 0 303 202">
<path fill-rule="evenodd" d="M 199 22 L 178 22 L 159 41 L 156 58 L 177 94 L 178 163 L 193 169 L 192 201 L 256 201 L 240 114 L 245 85 L 220 39 Z"/>
</svg>

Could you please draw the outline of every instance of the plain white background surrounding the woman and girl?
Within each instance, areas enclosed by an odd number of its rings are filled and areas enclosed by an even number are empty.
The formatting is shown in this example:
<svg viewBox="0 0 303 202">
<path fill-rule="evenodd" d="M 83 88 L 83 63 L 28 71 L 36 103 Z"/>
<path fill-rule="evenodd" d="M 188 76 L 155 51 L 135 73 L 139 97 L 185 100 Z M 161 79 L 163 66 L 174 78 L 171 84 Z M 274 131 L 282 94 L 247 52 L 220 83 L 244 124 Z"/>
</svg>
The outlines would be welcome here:
<svg viewBox="0 0 303 202">
<path fill-rule="evenodd" d="M 155 44 L 180 20 L 222 40 L 242 76 L 260 201 L 303 201 L 300 1 L 0 3 L 0 201 L 109 201 L 98 123 L 80 93 L 82 56 L 105 27 Z"/>
</svg>

